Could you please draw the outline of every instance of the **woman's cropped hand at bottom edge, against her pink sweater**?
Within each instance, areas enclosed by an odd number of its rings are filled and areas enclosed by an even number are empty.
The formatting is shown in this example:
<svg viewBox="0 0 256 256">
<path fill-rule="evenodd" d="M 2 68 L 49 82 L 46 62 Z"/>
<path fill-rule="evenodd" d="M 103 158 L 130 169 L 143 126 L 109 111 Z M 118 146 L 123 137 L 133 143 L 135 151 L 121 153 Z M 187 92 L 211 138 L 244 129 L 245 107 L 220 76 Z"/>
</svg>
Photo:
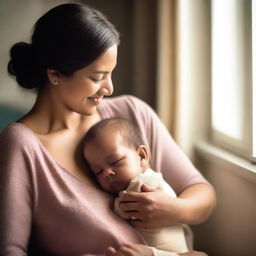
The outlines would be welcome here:
<svg viewBox="0 0 256 256">
<path fill-rule="evenodd" d="M 121 246 L 119 249 L 109 247 L 106 252 L 106 256 L 142 256 L 142 255 L 153 256 L 153 251 L 150 247 L 146 245 L 127 244 L 127 245 Z"/>
</svg>

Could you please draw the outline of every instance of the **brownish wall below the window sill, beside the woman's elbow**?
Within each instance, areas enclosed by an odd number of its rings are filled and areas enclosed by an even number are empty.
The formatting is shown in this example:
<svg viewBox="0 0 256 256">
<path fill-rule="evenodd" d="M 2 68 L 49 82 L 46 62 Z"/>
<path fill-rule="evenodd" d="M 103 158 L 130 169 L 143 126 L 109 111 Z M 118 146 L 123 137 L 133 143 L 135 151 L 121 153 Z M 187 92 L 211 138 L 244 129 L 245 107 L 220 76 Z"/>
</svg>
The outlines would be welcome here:
<svg viewBox="0 0 256 256">
<path fill-rule="evenodd" d="M 210 256 L 256 255 L 256 166 L 248 171 L 249 167 L 227 162 L 204 148 L 196 150 L 195 163 L 217 192 L 213 215 L 193 227 L 195 248 Z"/>
</svg>

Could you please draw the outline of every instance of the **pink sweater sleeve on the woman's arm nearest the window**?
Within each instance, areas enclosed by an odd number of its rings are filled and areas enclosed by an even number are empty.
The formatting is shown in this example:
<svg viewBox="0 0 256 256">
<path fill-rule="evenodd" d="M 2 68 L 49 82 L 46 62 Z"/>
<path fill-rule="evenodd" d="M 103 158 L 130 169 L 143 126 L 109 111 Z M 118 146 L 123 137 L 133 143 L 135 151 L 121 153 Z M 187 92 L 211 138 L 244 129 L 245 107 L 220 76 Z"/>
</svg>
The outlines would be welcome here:
<svg viewBox="0 0 256 256">
<path fill-rule="evenodd" d="M 140 99 L 129 96 L 128 111 L 138 124 L 143 140 L 151 150 L 150 165 L 179 195 L 185 188 L 208 182 L 178 147 L 154 110 Z"/>
</svg>

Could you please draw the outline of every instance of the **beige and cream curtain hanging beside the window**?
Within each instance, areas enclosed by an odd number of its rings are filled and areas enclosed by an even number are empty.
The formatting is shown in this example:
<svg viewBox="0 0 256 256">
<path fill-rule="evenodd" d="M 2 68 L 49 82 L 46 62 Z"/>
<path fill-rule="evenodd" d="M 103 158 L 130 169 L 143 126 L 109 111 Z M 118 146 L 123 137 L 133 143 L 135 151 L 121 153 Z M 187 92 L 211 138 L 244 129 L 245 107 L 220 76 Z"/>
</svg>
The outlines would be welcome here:
<svg viewBox="0 0 256 256">
<path fill-rule="evenodd" d="M 157 109 L 190 157 L 194 143 L 209 136 L 210 2 L 158 2 Z"/>
</svg>

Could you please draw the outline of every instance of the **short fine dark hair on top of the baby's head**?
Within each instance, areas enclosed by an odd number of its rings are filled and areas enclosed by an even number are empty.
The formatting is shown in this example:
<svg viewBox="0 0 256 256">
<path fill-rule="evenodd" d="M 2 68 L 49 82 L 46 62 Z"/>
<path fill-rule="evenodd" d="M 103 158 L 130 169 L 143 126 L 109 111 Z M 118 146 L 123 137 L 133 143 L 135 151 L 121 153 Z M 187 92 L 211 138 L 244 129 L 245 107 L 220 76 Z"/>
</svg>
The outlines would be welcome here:
<svg viewBox="0 0 256 256">
<path fill-rule="evenodd" d="M 125 118 L 113 117 L 99 121 L 88 130 L 84 138 L 84 147 L 91 140 L 95 139 L 101 132 L 101 129 L 106 126 L 111 126 L 113 130 L 119 132 L 124 145 L 129 148 L 137 150 L 143 144 L 139 129 L 132 122 Z"/>
</svg>

